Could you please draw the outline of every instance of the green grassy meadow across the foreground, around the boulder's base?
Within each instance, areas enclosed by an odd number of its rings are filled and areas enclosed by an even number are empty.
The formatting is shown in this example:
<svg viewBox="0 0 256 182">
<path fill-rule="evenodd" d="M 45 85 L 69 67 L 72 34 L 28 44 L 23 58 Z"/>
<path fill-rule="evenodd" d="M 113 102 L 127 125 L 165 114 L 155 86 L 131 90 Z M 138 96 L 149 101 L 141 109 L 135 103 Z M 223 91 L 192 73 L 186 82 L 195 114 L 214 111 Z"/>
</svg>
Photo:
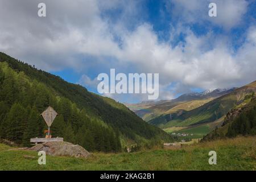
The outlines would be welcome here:
<svg viewBox="0 0 256 182">
<path fill-rule="evenodd" d="M 0 170 L 255 170 L 256 137 L 238 137 L 197 143 L 177 150 L 150 150 L 122 154 L 93 154 L 88 159 L 46 158 L 38 164 L 34 151 L 11 150 L 0 144 Z M 208 153 L 217 152 L 217 165 L 208 163 Z M 24 158 L 34 156 L 34 159 Z"/>
</svg>

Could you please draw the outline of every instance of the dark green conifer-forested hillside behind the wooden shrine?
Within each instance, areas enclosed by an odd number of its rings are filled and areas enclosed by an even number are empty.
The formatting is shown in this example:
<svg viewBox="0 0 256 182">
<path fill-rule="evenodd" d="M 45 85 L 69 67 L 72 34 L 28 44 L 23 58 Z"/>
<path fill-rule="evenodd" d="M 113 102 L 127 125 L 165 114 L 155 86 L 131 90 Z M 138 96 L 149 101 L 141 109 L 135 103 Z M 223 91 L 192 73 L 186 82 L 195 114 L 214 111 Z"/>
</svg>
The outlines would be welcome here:
<svg viewBox="0 0 256 182">
<path fill-rule="evenodd" d="M 48 106 L 59 113 L 52 135 L 89 151 L 121 151 L 127 141 L 150 147 L 172 140 L 124 105 L 5 53 L 0 53 L 0 90 L 0 137 L 23 146 L 43 137 L 46 125 L 39 115 Z"/>
</svg>

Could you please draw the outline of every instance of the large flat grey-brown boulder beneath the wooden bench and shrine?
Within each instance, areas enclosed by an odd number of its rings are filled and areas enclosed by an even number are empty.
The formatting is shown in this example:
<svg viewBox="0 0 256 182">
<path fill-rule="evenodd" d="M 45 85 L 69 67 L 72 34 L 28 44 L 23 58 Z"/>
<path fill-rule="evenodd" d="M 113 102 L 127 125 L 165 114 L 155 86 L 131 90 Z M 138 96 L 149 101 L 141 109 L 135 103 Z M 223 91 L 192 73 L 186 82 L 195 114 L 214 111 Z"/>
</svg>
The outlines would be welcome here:
<svg viewBox="0 0 256 182">
<path fill-rule="evenodd" d="M 48 155 L 53 156 L 75 156 L 76 158 L 88 158 L 90 153 L 78 144 L 69 142 L 45 142 L 36 144 L 30 150 L 45 151 Z"/>
</svg>

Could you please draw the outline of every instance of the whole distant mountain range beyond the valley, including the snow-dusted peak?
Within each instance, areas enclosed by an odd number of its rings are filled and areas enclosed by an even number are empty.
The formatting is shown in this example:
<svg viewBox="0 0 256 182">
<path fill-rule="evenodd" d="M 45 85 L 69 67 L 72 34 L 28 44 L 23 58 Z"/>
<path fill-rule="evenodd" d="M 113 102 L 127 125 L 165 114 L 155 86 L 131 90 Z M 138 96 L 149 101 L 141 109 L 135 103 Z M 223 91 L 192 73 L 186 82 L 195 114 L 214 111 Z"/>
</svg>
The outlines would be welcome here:
<svg viewBox="0 0 256 182">
<path fill-rule="evenodd" d="M 142 102 L 128 106 L 144 121 L 168 133 L 193 134 L 193 138 L 201 138 L 220 127 L 226 113 L 247 102 L 247 95 L 255 91 L 254 81 L 241 88 L 188 93 L 170 101 Z"/>
</svg>

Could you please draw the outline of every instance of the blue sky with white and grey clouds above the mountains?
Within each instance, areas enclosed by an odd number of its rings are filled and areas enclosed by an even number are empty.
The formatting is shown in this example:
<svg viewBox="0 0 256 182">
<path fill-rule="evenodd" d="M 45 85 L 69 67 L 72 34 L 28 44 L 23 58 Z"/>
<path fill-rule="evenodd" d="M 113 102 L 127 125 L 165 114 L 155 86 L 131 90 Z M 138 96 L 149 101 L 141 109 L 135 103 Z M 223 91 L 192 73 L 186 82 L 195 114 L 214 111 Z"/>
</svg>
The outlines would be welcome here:
<svg viewBox="0 0 256 182">
<path fill-rule="evenodd" d="M 95 93 L 110 68 L 159 73 L 159 100 L 171 100 L 255 81 L 255 18 L 255 0 L 0 0 L 0 51 Z"/>
</svg>

